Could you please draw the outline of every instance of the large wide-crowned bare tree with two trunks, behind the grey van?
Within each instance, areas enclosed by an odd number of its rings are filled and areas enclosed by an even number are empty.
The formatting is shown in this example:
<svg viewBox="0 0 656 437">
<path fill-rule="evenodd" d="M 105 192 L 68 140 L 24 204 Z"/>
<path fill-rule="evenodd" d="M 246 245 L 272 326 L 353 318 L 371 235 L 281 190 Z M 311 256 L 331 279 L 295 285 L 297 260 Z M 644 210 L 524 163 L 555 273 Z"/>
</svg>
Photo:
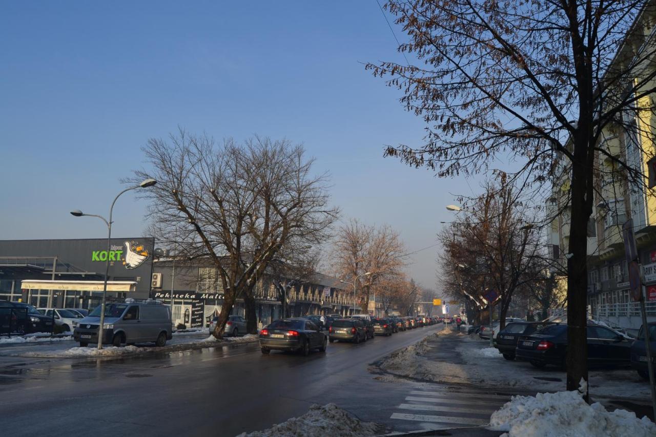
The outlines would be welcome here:
<svg viewBox="0 0 656 437">
<path fill-rule="evenodd" d="M 152 230 L 190 259 L 215 268 L 224 293 L 214 335 L 222 337 L 237 299 L 244 299 L 248 330 L 256 332 L 253 289 L 286 245 L 319 245 L 338 210 L 329 205 L 326 175 L 312 175 L 312 159 L 288 140 L 255 137 L 216 144 L 180 130 L 144 148 L 147 170 L 136 178 L 158 183 L 151 200 Z"/>
</svg>

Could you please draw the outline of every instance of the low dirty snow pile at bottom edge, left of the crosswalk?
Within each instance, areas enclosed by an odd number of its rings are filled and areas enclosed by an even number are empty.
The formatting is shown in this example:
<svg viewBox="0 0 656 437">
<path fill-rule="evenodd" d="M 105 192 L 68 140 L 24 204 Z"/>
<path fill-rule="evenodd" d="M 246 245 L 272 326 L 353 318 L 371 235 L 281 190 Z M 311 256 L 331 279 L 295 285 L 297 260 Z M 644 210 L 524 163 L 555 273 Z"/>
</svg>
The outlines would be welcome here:
<svg viewBox="0 0 656 437">
<path fill-rule="evenodd" d="M 312 405 L 300 417 L 293 417 L 264 431 L 244 432 L 237 437 L 359 437 L 375 436 L 378 430 L 379 425 L 359 421 L 335 404 L 327 404 Z"/>
</svg>

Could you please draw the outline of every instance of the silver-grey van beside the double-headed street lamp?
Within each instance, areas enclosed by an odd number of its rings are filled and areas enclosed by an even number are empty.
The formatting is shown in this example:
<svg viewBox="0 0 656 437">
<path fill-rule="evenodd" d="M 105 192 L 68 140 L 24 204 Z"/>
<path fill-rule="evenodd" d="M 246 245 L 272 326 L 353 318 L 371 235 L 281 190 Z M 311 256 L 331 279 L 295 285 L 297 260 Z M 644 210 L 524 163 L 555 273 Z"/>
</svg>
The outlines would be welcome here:
<svg viewBox="0 0 656 437">
<path fill-rule="evenodd" d="M 98 343 L 99 325 L 100 306 L 79 320 L 73 338 L 79 341 L 81 347 Z M 157 346 L 164 346 L 167 340 L 173 338 L 172 331 L 171 308 L 161 301 L 125 299 L 124 303 L 105 304 L 103 344 L 121 346 L 154 341 Z"/>
</svg>

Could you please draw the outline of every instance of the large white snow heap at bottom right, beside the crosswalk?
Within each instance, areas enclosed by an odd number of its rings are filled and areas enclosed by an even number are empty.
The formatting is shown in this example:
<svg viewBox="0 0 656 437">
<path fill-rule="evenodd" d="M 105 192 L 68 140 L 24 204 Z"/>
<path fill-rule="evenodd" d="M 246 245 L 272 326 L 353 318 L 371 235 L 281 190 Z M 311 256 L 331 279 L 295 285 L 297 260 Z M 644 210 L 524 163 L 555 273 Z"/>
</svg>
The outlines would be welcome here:
<svg viewBox="0 0 656 437">
<path fill-rule="evenodd" d="M 584 383 L 584 381 L 582 381 Z M 579 389 L 584 391 L 584 385 Z M 651 437 L 656 425 L 647 417 L 623 409 L 606 411 L 586 404 L 580 392 L 513 396 L 490 418 L 490 428 L 514 437 Z"/>
</svg>

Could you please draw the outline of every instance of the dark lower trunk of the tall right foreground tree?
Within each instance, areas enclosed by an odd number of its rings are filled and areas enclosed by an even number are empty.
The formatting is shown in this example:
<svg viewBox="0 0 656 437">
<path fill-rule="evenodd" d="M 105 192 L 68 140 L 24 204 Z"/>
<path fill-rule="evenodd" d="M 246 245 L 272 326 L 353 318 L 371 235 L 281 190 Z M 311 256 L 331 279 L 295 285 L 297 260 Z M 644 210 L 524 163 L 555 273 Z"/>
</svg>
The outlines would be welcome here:
<svg viewBox="0 0 656 437">
<path fill-rule="evenodd" d="M 590 196 L 592 190 L 586 190 L 586 182 L 583 163 L 573 162 L 569 232 L 571 257 L 567 260 L 567 390 L 578 390 L 581 379 L 588 381 L 586 255 L 588 219 L 592 208 L 586 206 L 586 195 Z M 588 401 L 587 389 L 584 400 Z"/>
</svg>

